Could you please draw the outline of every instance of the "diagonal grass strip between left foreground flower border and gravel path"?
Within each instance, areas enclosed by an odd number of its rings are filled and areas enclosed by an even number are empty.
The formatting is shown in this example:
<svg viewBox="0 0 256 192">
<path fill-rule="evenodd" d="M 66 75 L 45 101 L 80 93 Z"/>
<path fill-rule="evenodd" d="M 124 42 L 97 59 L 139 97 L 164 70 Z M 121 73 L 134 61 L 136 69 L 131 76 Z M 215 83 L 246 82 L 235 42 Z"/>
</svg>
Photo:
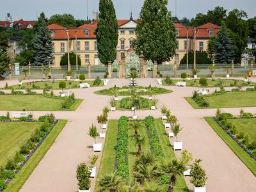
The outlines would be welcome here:
<svg viewBox="0 0 256 192">
<path fill-rule="evenodd" d="M 28 179 L 29 175 L 35 170 L 38 163 L 45 156 L 52 143 L 56 140 L 57 136 L 62 131 L 63 127 L 67 124 L 67 120 L 59 120 L 58 124 L 52 129 L 51 133 L 43 141 L 42 145 L 38 147 L 33 156 L 28 160 L 28 162 L 22 167 L 20 172 L 15 175 L 15 178 L 8 184 L 4 192 L 16 192 L 22 188 L 23 184 Z"/>
</svg>

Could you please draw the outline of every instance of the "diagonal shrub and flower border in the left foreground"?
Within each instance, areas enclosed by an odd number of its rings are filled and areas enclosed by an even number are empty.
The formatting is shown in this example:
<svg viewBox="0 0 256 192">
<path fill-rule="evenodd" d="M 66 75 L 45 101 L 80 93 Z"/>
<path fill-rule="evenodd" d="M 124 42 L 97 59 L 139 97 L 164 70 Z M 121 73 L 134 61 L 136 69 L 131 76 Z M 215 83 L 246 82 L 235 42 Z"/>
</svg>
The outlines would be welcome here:
<svg viewBox="0 0 256 192">
<path fill-rule="evenodd" d="M 6 188 L 10 181 L 19 173 L 20 169 L 26 164 L 36 149 L 40 147 L 42 142 L 47 138 L 58 120 L 54 120 L 54 115 L 46 115 L 45 118 L 39 120 L 31 120 L 26 122 L 43 122 L 40 129 L 36 129 L 29 140 L 22 144 L 20 150 L 16 152 L 13 159 L 8 160 L 6 165 L 0 170 L 0 191 Z M 13 121 L 15 122 L 15 121 Z"/>
</svg>

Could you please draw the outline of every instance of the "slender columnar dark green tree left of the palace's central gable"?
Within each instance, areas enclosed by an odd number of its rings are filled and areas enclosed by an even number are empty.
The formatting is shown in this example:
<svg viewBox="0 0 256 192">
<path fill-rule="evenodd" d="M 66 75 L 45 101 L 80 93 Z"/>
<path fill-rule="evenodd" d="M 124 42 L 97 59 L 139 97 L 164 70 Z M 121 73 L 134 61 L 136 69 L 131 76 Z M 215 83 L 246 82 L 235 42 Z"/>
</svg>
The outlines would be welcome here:
<svg viewBox="0 0 256 192">
<path fill-rule="evenodd" d="M 118 43 L 118 24 L 115 8 L 111 0 L 100 0 L 99 20 L 95 30 L 97 36 L 98 54 L 101 63 L 116 59 L 116 45 Z"/>
</svg>

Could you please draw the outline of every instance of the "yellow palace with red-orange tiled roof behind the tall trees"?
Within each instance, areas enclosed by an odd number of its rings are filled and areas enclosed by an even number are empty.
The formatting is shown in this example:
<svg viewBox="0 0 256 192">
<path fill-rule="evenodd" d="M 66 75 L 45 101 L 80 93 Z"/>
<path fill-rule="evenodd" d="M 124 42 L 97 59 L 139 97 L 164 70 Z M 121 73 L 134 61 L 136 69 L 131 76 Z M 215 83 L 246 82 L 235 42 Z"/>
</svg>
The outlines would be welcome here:
<svg viewBox="0 0 256 192">
<path fill-rule="evenodd" d="M 132 17 L 129 20 L 118 20 L 118 45 L 116 46 L 116 60 L 120 61 L 122 56 L 127 56 L 129 52 L 134 52 L 132 41 L 136 38 L 135 28 L 137 20 Z M 58 24 L 51 24 L 52 42 L 54 43 L 54 67 L 60 67 L 61 56 L 65 52 L 77 52 L 82 65 L 100 65 L 97 54 L 97 40 L 94 35 L 97 22 L 93 21 L 78 28 L 65 28 Z M 202 26 L 186 27 L 175 24 L 177 29 L 177 49 L 176 55 L 170 58 L 166 64 L 173 64 L 184 57 L 187 51 L 198 50 L 206 51 L 207 42 L 211 36 L 215 36 L 220 29 L 211 23 Z"/>
</svg>

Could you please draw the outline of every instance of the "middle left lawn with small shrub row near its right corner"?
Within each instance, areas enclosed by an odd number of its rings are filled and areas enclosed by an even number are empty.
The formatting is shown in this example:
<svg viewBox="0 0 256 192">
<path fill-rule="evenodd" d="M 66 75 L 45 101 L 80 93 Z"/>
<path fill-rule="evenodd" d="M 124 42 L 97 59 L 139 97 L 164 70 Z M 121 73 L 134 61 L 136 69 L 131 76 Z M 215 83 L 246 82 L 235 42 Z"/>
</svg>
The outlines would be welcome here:
<svg viewBox="0 0 256 192">
<path fill-rule="evenodd" d="M 70 111 L 76 110 L 82 100 L 77 99 Z M 51 99 L 42 95 L 0 95 L 2 111 L 60 111 L 62 99 Z"/>
</svg>

